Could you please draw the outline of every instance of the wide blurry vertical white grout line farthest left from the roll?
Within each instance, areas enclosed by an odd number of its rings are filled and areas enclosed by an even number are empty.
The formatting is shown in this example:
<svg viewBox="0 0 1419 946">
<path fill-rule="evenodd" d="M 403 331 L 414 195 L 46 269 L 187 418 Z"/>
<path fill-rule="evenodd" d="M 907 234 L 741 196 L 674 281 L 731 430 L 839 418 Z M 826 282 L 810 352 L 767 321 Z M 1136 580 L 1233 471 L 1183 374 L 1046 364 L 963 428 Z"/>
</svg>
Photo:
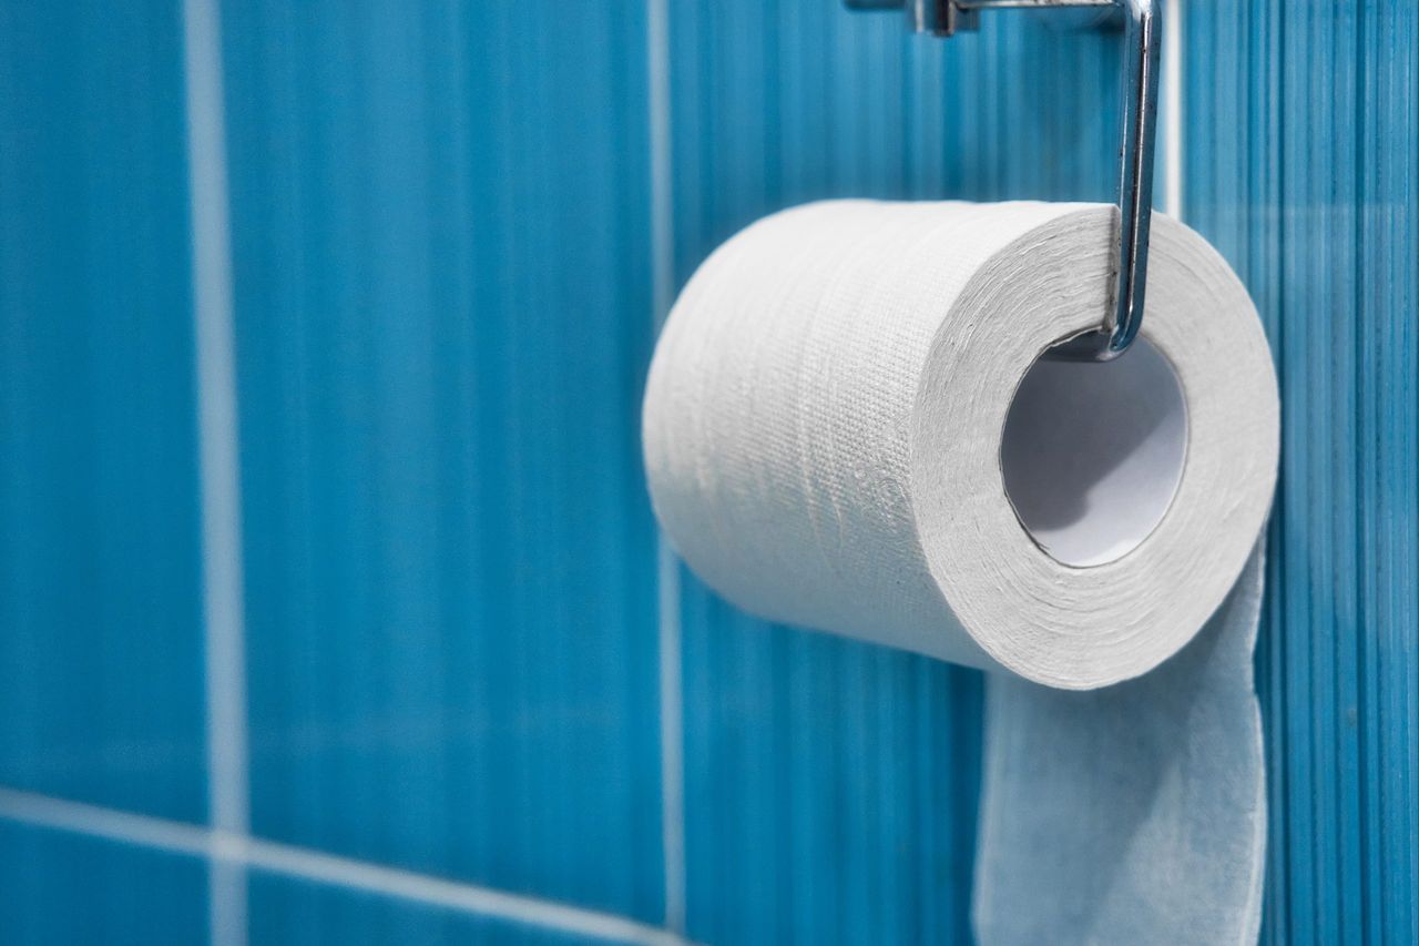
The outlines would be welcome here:
<svg viewBox="0 0 1419 946">
<path fill-rule="evenodd" d="M 220 17 L 217 0 L 183 0 L 206 626 L 207 798 L 214 828 L 244 834 L 248 790 L 241 484 Z M 216 946 L 245 943 L 245 874 L 213 865 L 209 882 L 211 942 Z"/>
</svg>

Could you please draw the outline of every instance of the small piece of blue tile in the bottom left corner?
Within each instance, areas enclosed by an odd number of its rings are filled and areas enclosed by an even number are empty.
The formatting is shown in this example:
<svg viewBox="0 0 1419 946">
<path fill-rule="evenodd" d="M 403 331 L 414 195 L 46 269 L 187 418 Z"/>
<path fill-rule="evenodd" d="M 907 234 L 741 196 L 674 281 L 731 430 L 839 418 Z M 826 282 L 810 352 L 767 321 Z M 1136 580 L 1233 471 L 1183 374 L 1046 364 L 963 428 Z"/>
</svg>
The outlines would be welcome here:
<svg viewBox="0 0 1419 946">
<path fill-rule="evenodd" d="M 0 943 L 207 942 L 197 858 L 0 820 Z"/>
</svg>

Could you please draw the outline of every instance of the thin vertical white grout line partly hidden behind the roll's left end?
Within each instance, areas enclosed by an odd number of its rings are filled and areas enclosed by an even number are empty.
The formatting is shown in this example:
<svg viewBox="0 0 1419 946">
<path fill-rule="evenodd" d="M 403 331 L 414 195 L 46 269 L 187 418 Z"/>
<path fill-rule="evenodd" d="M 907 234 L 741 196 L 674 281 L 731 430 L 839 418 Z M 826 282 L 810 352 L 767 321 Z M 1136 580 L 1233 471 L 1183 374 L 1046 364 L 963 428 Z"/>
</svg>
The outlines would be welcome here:
<svg viewBox="0 0 1419 946">
<path fill-rule="evenodd" d="M 656 328 L 664 322 L 674 294 L 674 205 L 670 142 L 670 9 L 667 0 L 646 3 L 646 72 L 650 129 L 651 307 Z M 656 534 L 660 589 L 660 785 L 661 857 L 666 865 L 666 926 L 685 930 L 685 770 L 680 646 L 680 565 Z"/>
</svg>

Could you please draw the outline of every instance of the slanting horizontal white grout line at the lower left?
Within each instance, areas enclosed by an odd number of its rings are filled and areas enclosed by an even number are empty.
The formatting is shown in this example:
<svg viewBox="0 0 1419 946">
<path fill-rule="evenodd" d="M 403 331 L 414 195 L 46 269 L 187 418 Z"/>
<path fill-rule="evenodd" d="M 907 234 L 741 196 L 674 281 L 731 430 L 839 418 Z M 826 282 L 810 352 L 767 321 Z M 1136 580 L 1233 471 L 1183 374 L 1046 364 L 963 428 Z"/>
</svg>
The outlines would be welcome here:
<svg viewBox="0 0 1419 946">
<path fill-rule="evenodd" d="M 261 841 L 238 832 L 209 830 L 27 791 L 0 788 L 0 818 L 169 854 L 209 858 L 243 875 L 247 869 L 265 871 L 602 940 L 639 946 L 685 945 L 685 940 L 674 933 L 613 913 L 366 864 L 308 848 Z"/>
</svg>

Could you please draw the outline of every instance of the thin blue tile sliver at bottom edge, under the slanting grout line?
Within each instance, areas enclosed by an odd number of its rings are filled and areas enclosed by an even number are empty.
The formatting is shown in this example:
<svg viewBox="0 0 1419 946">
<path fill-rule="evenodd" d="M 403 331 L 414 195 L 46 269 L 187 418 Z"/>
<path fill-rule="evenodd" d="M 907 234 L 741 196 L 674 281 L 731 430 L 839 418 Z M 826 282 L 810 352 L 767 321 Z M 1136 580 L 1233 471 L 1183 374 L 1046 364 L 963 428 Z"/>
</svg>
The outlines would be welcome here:
<svg viewBox="0 0 1419 946">
<path fill-rule="evenodd" d="M 253 872 L 247 885 L 247 939 L 278 946 L 580 946 L 587 939 L 545 926 L 455 912 L 295 876 Z"/>
</svg>

